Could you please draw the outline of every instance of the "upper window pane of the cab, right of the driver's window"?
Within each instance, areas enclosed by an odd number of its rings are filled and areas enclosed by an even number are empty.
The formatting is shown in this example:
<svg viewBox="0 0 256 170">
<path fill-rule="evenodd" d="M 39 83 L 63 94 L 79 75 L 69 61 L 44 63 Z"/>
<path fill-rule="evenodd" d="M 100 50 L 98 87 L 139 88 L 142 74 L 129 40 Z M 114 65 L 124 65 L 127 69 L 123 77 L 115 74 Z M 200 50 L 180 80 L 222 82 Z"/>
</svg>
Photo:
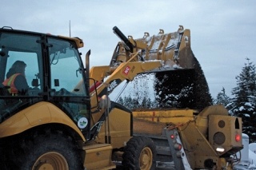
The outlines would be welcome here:
<svg viewBox="0 0 256 170">
<path fill-rule="evenodd" d="M 86 95 L 84 84 L 82 83 L 84 70 L 81 60 L 78 59 L 78 50 L 71 42 L 62 41 L 55 38 L 48 38 L 50 44 L 50 75 L 52 95 L 65 90 L 65 95 Z M 81 83 L 80 83 L 81 82 Z"/>
</svg>

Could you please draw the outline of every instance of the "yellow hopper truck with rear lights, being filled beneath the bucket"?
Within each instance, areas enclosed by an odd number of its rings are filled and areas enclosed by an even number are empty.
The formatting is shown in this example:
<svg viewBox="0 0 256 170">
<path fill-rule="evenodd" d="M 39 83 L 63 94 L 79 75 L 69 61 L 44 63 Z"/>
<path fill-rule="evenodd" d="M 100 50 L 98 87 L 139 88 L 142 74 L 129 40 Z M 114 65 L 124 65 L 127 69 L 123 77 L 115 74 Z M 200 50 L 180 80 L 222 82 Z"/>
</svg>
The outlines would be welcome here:
<svg viewBox="0 0 256 170">
<path fill-rule="evenodd" d="M 134 134 L 157 145 L 158 161 L 174 161 L 178 169 L 232 169 L 231 157 L 242 148 L 242 120 L 222 105 L 198 113 L 193 109 L 136 110 Z M 236 162 L 237 161 L 237 162 Z"/>
</svg>

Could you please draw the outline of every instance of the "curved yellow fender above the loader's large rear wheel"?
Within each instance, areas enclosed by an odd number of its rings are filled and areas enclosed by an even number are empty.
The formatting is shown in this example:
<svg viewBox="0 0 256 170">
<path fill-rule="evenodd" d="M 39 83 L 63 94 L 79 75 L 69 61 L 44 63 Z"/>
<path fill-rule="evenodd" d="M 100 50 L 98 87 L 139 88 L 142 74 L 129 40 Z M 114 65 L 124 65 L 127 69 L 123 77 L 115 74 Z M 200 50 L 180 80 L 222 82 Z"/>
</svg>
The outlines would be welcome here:
<svg viewBox="0 0 256 170">
<path fill-rule="evenodd" d="M 32 105 L 2 122 L 0 125 L 0 137 L 12 136 L 35 126 L 50 123 L 67 125 L 73 128 L 81 136 L 82 140 L 86 140 L 70 117 L 63 113 L 61 109 L 46 101 Z"/>
</svg>

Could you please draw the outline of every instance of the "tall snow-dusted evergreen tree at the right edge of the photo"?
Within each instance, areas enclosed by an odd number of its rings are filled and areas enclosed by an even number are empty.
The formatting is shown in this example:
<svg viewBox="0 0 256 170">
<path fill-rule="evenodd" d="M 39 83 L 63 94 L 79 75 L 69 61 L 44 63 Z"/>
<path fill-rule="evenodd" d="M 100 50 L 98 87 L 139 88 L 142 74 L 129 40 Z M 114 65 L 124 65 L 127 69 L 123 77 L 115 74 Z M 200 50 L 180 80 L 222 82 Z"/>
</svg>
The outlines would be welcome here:
<svg viewBox="0 0 256 170">
<path fill-rule="evenodd" d="M 242 117 L 242 132 L 250 136 L 250 142 L 256 141 L 256 73 L 255 65 L 246 58 L 247 64 L 242 72 L 235 77 L 237 86 L 232 90 L 230 113 Z"/>
</svg>

